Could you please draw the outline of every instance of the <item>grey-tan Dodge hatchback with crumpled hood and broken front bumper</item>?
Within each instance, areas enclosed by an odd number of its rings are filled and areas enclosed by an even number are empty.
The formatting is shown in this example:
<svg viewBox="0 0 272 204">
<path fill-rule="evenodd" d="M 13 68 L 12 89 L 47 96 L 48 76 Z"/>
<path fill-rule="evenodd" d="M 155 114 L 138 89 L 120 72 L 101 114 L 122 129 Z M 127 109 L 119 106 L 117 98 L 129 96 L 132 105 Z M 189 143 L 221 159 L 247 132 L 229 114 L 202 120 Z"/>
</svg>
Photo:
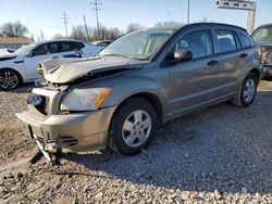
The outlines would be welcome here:
<svg viewBox="0 0 272 204">
<path fill-rule="evenodd" d="M 249 106 L 260 79 L 257 59 L 250 36 L 232 25 L 134 31 L 94 59 L 51 63 L 46 86 L 33 89 L 28 111 L 16 116 L 45 153 L 110 146 L 133 155 L 160 125 L 185 113 L 227 100 Z"/>
</svg>

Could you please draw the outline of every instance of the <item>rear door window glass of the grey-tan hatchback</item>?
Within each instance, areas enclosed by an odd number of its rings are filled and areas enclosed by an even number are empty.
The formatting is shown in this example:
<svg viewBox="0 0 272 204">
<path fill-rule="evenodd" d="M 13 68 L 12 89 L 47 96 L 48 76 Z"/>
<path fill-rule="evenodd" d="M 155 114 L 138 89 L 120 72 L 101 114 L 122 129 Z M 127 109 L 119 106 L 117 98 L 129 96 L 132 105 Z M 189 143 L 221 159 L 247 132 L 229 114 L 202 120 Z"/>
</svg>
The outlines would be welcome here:
<svg viewBox="0 0 272 204">
<path fill-rule="evenodd" d="M 230 52 L 237 49 L 234 33 L 225 29 L 217 29 L 219 52 Z"/>
</svg>

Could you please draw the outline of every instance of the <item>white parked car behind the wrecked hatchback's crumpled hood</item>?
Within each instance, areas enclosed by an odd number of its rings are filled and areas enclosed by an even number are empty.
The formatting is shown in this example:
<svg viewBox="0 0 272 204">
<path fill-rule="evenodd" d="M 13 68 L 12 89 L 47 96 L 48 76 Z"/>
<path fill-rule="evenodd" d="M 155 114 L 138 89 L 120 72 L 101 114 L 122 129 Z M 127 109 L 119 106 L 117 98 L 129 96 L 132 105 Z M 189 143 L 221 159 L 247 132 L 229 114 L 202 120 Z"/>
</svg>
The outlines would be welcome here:
<svg viewBox="0 0 272 204">
<path fill-rule="evenodd" d="M 50 40 L 30 43 L 14 53 L 0 56 L 0 89 L 12 90 L 34 81 L 40 61 L 55 58 L 89 58 L 101 48 L 76 40 Z"/>
</svg>

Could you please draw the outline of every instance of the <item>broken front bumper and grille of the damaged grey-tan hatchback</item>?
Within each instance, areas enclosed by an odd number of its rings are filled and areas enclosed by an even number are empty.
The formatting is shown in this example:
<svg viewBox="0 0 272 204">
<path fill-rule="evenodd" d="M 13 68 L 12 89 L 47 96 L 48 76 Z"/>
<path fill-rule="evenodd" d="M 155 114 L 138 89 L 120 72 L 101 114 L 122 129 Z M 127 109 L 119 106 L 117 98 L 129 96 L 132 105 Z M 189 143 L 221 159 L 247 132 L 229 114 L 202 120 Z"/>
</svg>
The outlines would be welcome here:
<svg viewBox="0 0 272 204">
<path fill-rule="evenodd" d="M 50 160 L 50 152 L 66 149 L 75 152 L 103 149 L 115 107 L 96 111 L 62 112 L 61 103 L 69 90 L 33 89 L 28 110 L 16 116 L 26 133 L 36 140 L 39 149 Z"/>
</svg>

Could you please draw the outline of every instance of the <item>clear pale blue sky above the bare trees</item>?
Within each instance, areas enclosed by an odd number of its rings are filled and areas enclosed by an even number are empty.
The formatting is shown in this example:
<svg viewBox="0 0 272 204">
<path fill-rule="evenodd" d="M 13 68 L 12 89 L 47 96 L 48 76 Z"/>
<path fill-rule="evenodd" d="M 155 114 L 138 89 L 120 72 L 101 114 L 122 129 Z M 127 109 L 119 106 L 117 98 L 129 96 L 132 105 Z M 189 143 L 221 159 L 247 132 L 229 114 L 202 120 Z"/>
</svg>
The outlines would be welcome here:
<svg viewBox="0 0 272 204">
<path fill-rule="evenodd" d="M 0 25 L 5 22 L 20 22 L 28 27 L 29 35 L 46 39 L 55 34 L 65 36 L 61 14 L 69 15 L 67 29 L 83 25 L 83 15 L 88 26 L 96 26 L 96 13 L 89 5 L 95 0 L 0 0 Z M 272 0 L 257 2 L 256 27 L 272 23 Z M 99 22 L 107 27 L 119 27 L 126 30 L 129 23 L 139 23 L 151 27 L 158 22 L 175 21 L 186 23 L 187 0 L 98 0 Z M 205 17 L 208 22 L 228 23 L 246 27 L 247 12 L 238 10 L 215 9 L 215 0 L 190 0 L 190 22 Z"/>
</svg>

